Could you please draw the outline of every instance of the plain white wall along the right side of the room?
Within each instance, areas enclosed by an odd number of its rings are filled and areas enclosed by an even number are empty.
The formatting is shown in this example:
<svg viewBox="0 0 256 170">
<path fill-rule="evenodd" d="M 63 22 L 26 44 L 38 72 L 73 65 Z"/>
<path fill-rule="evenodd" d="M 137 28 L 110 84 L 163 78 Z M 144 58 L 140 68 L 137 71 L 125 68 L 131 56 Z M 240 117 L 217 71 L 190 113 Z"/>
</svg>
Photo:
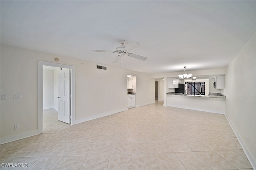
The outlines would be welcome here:
<svg viewBox="0 0 256 170">
<path fill-rule="evenodd" d="M 226 117 L 256 169 L 256 34 L 228 65 L 225 76 Z M 249 142 L 247 141 L 249 137 Z"/>
</svg>

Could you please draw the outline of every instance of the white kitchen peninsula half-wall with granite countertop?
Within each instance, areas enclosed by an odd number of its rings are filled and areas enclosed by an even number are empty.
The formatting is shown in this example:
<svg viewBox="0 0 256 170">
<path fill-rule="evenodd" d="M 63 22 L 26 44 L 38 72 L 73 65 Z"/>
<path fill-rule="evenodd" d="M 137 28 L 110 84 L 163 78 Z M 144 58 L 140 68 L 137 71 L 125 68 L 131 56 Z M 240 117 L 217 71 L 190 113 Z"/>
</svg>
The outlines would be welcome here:
<svg viewBox="0 0 256 170">
<path fill-rule="evenodd" d="M 166 93 L 167 106 L 192 109 L 198 111 L 207 111 L 212 113 L 225 114 L 226 96 L 221 94 L 200 96 L 184 95 L 175 92 Z"/>
</svg>

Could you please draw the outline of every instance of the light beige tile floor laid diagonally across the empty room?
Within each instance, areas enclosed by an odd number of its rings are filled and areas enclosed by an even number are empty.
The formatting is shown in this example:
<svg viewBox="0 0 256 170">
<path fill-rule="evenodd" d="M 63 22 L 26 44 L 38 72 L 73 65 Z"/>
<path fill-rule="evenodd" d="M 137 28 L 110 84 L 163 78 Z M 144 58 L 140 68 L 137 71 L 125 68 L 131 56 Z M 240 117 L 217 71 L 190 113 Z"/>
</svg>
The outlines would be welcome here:
<svg viewBox="0 0 256 170">
<path fill-rule="evenodd" d="M 252 170 L 224 115 L 162 105 L 156 101 L 77 125 L 58 121 L 57 112 L 46 109 L 42 134 L 0 145 L 1 166 L 23 163 L 28 167 L 20 169 L 29 170 Z"/>
</svg>

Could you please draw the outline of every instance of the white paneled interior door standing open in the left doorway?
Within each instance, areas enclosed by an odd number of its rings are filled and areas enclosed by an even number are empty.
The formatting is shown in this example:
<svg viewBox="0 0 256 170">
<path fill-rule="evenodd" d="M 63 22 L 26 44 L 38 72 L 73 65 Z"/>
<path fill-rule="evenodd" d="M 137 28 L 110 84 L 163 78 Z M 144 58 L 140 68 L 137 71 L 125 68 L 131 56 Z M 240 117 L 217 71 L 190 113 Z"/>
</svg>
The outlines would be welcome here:
<svg viewBox="0 0 256 170">
<path fill-rule="evenodd" d="M 70 69 L 62 68 L 59 76 L 58 120 L 70 124 Z"/>
</svg>

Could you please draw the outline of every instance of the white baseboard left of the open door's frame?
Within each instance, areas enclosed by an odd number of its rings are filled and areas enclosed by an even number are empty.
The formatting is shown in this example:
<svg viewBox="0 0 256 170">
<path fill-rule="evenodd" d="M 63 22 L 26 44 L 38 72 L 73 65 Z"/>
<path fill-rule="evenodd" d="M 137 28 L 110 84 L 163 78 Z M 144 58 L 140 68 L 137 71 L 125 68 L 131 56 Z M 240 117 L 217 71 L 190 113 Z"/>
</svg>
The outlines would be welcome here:
<svg viewBox="0 0 256 170">
<path fill-rule="evenodd" d="M 24 139 L 26 137 L 31 137 L 31 136 L 34 136 L 34 135 L 38 135 L 38 134 L 39 134 L 38 130 L 24 132 L 24 133 L 19 133 L 19 134 L 16 134 L 16 135 L 12 135 L 10 137 L 1 138 L 0 139 L 0 144 L 2 145 L 4 143 L 17 141 L 17 140 Z"/>
</svg>

